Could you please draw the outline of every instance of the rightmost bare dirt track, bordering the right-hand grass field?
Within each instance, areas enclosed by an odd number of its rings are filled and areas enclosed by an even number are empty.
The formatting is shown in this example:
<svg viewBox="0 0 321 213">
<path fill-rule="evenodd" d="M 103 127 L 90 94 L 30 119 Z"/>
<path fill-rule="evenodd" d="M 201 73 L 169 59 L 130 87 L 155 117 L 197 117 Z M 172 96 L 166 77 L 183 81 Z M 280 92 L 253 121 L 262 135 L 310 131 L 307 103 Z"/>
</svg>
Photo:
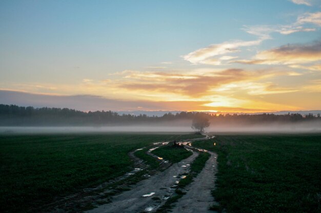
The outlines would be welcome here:
<svg viewBox="0 0 321 213">
<path fill-rule="evenodd" d="M 211 195 L 211 191 L 215 186 L 217 155 L 212 152 L 208 153 L 211 156 L 206 161 L 205 167 L 197 177 L 194 178 L 194 181 L 186 187 L 186 195 L 178 200 L 175 207 L 172 209 L 172 212 L 214 212 L 209 210 L 209 206 L 217 204 Z"/>
</svg>

